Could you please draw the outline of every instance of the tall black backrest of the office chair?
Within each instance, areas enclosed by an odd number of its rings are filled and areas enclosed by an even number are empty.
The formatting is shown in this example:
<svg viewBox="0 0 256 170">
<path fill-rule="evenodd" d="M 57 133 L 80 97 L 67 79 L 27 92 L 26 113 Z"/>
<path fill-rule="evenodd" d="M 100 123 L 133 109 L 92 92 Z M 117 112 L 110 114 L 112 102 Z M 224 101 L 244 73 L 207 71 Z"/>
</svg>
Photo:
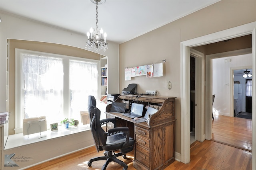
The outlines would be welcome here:
<svg viewBox="0 0 256 170">
<path fill-rule="evenodd" d="M 88 98 L 88 113 L 90 117 L 90 127 L 95 147 L 99 152 L 102 146 L 106 145 L 106 136 L 104 136 L 104 129 L 100 125 L 100 109 L 96 107 L 96 99 L 94 96 Z"/>
</svg>

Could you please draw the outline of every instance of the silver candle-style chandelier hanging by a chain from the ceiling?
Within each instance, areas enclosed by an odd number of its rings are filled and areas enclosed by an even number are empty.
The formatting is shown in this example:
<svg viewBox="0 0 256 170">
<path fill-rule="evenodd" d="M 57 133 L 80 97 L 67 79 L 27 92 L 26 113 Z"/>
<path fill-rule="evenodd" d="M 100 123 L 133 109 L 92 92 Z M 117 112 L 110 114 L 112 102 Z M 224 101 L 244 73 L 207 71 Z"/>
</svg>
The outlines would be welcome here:
<svg viewBox="0 0 256 170">
<path fill-rule="evenodd" d="M 101 0 L 91 0 L 96 2 L 96 29 L 90 28 L 90 32 L 87 31 L 88 41 L 86 42 L 85 48 L 89 50 L 94 49 L 96 51 L 103 49 L 106 51 L 108 49 L 108 43 L 106 43 L 106 32 L 103 34 L 103 29 L 98 30 L 98 2 Z M 104 36 L 104 37 L 103 37 Z"/>
</svg>

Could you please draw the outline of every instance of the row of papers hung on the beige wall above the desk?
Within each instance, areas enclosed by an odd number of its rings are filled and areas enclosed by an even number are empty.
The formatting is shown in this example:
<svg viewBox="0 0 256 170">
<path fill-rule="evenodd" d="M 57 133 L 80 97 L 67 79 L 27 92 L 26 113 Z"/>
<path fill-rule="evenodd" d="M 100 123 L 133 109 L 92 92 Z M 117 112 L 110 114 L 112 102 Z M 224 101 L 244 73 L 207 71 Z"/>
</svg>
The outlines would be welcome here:
<svg viewBox="0 0 256 170">
<path fill-rule="evenodd" d="M 131 80 L 131 77 L 136 76 L 161 77 L 163 76 L 163 63 L 125 68 L 124 74 L 125 80 Z"/>
</svg>

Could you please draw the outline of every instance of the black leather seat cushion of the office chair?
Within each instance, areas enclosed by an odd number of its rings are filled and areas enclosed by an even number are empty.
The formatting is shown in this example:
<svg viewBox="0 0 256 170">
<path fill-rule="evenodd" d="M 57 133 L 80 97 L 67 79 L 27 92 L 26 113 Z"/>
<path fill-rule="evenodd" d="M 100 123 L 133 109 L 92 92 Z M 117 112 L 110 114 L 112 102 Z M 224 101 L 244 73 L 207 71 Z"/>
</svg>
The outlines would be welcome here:
<svg viewBox="0 0 256 170">
<path fill-rule="evenodd" d="M 117 133 L 115 135 L 108 136 L 106 145 L 102 146 L 102 149 L 107 150 L 107 151 L 120 149 L 120 151 L 122 153 L 127 153 L 127 152 L 132 151 L 132 149 L 133 149 L 132 146 L 134 145 L 134 139 L 129 137 L 129 143 L 128 143 L 127 147 L 123 148 L 125 141 L 126 141 L 125 133 Z M 126 150 L 128 150 L 128 151 L 126 151 Z"/>
</svg>

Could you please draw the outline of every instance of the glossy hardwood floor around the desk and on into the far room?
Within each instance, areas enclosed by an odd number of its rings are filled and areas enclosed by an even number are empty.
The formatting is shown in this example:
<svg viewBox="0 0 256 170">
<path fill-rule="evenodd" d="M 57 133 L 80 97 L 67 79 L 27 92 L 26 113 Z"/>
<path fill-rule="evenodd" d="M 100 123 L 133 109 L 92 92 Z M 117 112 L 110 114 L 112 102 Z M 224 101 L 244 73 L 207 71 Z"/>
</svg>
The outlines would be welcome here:
<svg viewBox="0 0 256 170">
<path fill-rule="evenodd" d="M 250 121 L 241 120 L 242 118 L 230 119 L 230 117 L 215 116 L 213 126 L 214 139 L 225 138 L 226 141 L 233 143 L 247 143 L 246 148 L 252 148 L 251 130 L 252 124 Z M 242 124 L 247 122 L 247 128 Z M 232 127 L 233 124 L 233 127 Z M 222 126 L 221 126 L 222 125 Z M 218 127 L 219 126 L 219 127 Z M 225 128 L 224 128 L 225 127 Z M 230 133 L 235 131 L 234 136 L 239 137 L 234 139 Z M 249 131 L 249 132 L 244 132 Z M 217 135 L 218 133 L 218 135 Z M 241 136 L 244 133 L 243 137 Z M 247 134 L 247 135 L 246 135 Z M 242 139 L 243 138 L 243 139 Z M 224 140 L 224 141 L 225 141 Z M 237 141 L 237 142 L 236 142 Z M 224 143 L 224 142 L 223 142 Z M 44 162 L 42 164 L 28 168 L 27 170 L 100 170 L 105 161 L 92 162 L 92 166 L 88 167 L 87 162 L 90 158 L 102 156 L 103 151 L 97 153 L 95 147 L 90 147 L 80 150 L 73 154 L 56 158 Z M 122 156 L 118 157 L 128 164 L 128 170 L 136 170 L 132 166 L 133 152 L 127 155 L 128 159 L 125 160 Z M 190 145 L 190 162 L 184 164 L 182 162 L 174 161 L 164 170 L 252 170 L 252 152 L 224 145 L 220 142 L 208 141 L 194 142 Z M 114 162 L 111 162 L 107 170 L 122 170 L 122 167 Z"/>
</svg>

